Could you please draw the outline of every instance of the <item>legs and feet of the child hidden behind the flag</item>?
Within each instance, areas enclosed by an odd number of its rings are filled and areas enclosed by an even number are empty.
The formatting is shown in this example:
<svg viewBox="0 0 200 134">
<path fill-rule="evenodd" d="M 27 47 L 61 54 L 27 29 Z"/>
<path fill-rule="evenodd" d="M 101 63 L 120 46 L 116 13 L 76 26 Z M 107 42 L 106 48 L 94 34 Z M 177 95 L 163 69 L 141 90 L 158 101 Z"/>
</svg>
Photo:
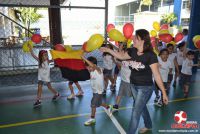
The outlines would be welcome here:
<svg viewBox="0 0 200 134">
<path fill-rule="evenodd" d="M 78 93 L 75 95 L 74 94 L 74 88 L 73 88 L 73 83 L 75 83 L 76 87 L 78 88 Z M 67 97 L 67 99 L 71 100 L 71 99 L 75 99 L 75 96 L 80 97 L 83 96 L 84 92 L 81 89 L 81 86 L 79 85 L 78 81 L 69 81 L 68 83 L 69 89 L 71 91 L 71 95 Z"/>
</svg>

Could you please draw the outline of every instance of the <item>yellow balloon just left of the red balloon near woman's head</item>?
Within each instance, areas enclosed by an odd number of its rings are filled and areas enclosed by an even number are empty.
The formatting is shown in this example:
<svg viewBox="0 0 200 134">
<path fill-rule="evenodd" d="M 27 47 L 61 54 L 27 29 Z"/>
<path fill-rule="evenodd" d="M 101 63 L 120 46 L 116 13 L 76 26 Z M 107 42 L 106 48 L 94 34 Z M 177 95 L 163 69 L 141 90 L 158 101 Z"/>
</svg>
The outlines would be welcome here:
<svg viewBox="0 0 200 134">
<path fill-rule="evenodd" d="M 124 35 L 117 29 L 111 29 L 110 32 L 108 33 L 108 36 L 110 39 L 114 41 L 119 41 L 119 42 L 126 41 L 126 38 L 124 37 Z"/>
</svg>

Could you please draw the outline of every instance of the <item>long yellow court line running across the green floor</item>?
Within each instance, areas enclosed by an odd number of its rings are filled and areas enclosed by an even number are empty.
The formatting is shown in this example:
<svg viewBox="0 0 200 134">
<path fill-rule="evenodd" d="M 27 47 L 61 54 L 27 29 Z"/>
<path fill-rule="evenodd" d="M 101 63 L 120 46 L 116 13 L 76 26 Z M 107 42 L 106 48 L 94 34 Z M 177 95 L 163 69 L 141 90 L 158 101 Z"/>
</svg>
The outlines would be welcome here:
<svg viewBox="0 0 200 134">
<path fill-rule="evenodd" d="M 171 101 L 169 101 L 169 103 L 179 102 L 179 101 L 186 101 L 186 100 L 194 100 L 194 99 L 200 99 L 200 96 L 171 100 Z M 154 105 L 154 103 L 149 103 L 147 105 L 151 106 L 151 105 Z M 132 109 L 132 108 L 133 107 L 121 107 L 121 108 L 119 108 L 119 110 L 126 110 L 126 109 Z M 99 112 L 97 112 L 97 114 L 103 113 L 103 112 L 104 111 L 99 111 Z M 9 127 L 30 125 L 30 124 L 36 124 L 36 123 L 42 123 L 42 122 L 49 122 L 49 121 L 56 121 L 56 120 L 63 120 L 63 119 L 68 119 L 68 118 L 76 118 L 76 117 L 89 116 L 89 115 L 90 115 L 90 113 L 66 115 L 66 116 L 60 116 L 60 117 L 54 117 L 54 118 L 47 118 L 47 119 L 41 119 L 41 120 L 33 120 L 33 121 L 26 121 L 26 122 L 19 122 L 19 123 L 13 123 L 13 124 L 0 125 L 0 128 L 9 128 Z"/>
</svg>

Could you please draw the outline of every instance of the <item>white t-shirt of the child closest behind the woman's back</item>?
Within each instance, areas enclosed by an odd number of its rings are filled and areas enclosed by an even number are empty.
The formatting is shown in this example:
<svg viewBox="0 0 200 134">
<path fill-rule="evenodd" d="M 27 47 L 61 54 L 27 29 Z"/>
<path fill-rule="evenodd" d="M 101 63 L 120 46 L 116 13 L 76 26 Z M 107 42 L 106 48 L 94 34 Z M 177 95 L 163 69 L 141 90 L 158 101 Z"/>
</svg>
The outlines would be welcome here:
<svg viewBox="0 0 200 134">
<path fill-rule="evenodd" d="M 169 60 L 167 60 L 166 62 L 162 61 L 160 57 L 158 57 L 158 63 L 161 65 L 161 67 L 159 67 L 159 71 L 160 71 L 162 80 L 163 82 L 167 82 L 169 69 L 172 68 L 172 64 Z"/>
</svg>

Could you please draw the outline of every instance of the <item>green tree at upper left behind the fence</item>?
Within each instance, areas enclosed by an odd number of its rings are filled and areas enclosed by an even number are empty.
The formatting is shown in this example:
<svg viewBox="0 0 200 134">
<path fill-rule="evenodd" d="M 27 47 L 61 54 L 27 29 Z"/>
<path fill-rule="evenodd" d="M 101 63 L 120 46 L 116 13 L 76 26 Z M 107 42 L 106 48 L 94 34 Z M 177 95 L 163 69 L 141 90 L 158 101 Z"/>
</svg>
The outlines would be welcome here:
<svg viewBox="0 0 200 134">
<path fill-rule="evenodd" d="M 38 13 L 39 8 L 15 8 L 16 18 L 26 27 L 30 29 L 30 25 L 39 21 L 40 18 L 43 18 L 41 14 Z M 25 35 L 29 37 L 29 32 L 25 30 Z"/>
</svg>

